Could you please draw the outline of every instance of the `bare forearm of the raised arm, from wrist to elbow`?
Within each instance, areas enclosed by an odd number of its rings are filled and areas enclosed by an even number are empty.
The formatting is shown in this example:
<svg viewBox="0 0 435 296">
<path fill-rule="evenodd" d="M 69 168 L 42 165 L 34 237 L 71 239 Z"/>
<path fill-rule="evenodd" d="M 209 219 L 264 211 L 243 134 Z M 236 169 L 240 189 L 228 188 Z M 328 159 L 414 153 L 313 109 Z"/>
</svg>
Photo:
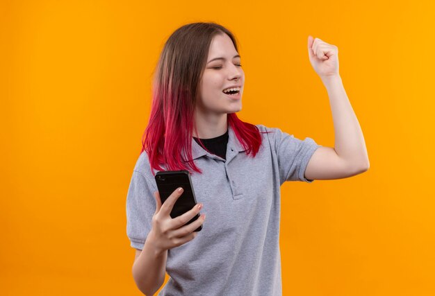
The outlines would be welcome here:
<svg viewBox="0 0 435 296">
<path fill-rule="evenodd" d="M 334 121 L 334 150 L 339 157 L 350 164 L 368 168 L 370 164 L 366 142 L 349 98 L 347 98 L 341 77 L 339 75 L 329 76 L 322 78 L 322 82 L 328 92 Z"/>
</svg>

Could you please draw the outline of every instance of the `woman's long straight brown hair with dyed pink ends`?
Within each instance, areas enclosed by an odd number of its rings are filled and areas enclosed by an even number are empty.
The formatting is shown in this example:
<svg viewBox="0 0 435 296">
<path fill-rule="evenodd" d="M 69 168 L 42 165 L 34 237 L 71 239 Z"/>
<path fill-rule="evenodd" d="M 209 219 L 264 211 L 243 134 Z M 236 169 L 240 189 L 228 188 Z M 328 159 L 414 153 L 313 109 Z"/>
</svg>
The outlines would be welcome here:
<svg viewBox="0 0 435 296">
<path fill-rule="evenodd" d="M 153 175 L 154 169 L 165 171 L 162 164 L 170 171 L 202 173 L 192 160 L 194 111 L 208 49 L 217 34 L 227 34 L 238 51 L 233 34 L 215 23 L 186 24 L 174 31 L 165 43 L 156 67 L 151 114 L 140 151 L 147 152 Z M 261 145 L 256 125 L 241 121 L 236 113 L 227 116 L 247 155 L 255 157 Z"/>
</svg>

